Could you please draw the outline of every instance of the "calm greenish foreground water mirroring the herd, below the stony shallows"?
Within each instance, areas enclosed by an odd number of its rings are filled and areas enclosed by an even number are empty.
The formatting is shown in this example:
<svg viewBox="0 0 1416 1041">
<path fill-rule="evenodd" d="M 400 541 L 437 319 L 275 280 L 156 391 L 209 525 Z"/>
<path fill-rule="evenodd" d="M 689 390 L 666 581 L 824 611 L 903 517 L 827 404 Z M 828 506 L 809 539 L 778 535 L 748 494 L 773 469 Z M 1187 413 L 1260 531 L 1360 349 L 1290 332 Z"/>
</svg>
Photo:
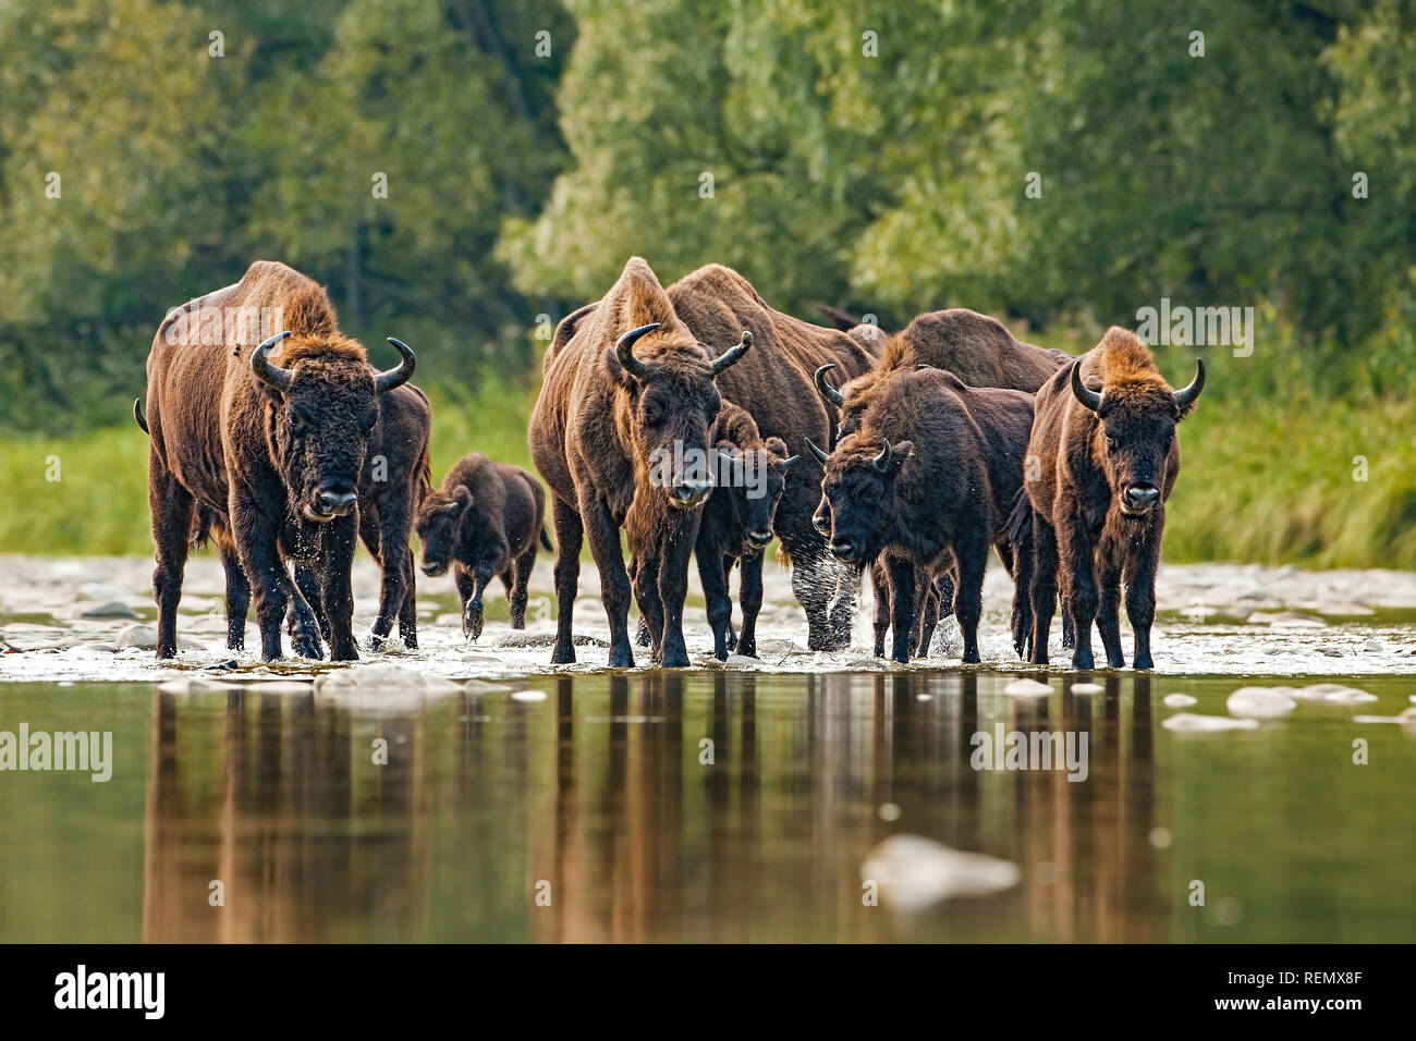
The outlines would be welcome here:
<svg viewBox="0 0 1416 1041">
<path fill-rule="evenodd" d="M 0 940 L 1413 938 L 1416 731 L 1354 721 L 1410 681 L 1177 734 L 1164 694 L 1223 714 L 1238 683 L 1054 677 L 1038 698 L 1011 678 L 568 674 L 387 710 L 0 684 L 0 729 L 113 734 L 106 783 L 0 775 Z M 1085 780 L 974 769 L 1000 724 L 1085 734 Z M 869 906 L 864 864 L 899 834 L 1017 882 L 930 902 L 927 863 L 923 894 L 905 864 Z"/>
</svg>

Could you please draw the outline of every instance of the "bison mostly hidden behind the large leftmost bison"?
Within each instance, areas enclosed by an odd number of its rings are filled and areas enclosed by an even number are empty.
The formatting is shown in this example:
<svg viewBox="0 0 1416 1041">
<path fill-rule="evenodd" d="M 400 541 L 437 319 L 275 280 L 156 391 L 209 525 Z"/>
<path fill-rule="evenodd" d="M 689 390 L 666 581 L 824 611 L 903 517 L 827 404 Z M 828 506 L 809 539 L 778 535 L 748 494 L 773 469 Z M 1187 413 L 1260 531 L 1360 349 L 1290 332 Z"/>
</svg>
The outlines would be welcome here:
<svg viewBox="0 0 1416 1041">
<path fill-rule="evenodd" d="M 146 433 L 142 399 L 133 402 L 133 416 Z M 398 619 L 398 636 L 404 646 L 418 647 L 418 595 L 408 535 L 413 511 L 432 484 L 428 455 L 430 433 L 432 408 L 421 389 L 405 384 L 379 397 L 378 426 L 370 435 L 367 462 L 358 480 L 360 540 L 382 572 L 378 616 L 370 629 L 370 646 L 374 650 L 379 650 L 388 640 L 394 619 Z M 251 582 L 241 569 L 241 558 L 225 517 L 198 506 L 193 547 L 202 548 L 208 541 L 215 542 L 227 575 L 227 647 L 241 650 L 246 646 Z M 320 601 L 314 571 L 307 564 L 297 562 L 295 584 L 314 612 L 320 633 L 330 640 L 330 622 Z M 300 609 L 297 602 L 296 610 Z"/>
</svg>

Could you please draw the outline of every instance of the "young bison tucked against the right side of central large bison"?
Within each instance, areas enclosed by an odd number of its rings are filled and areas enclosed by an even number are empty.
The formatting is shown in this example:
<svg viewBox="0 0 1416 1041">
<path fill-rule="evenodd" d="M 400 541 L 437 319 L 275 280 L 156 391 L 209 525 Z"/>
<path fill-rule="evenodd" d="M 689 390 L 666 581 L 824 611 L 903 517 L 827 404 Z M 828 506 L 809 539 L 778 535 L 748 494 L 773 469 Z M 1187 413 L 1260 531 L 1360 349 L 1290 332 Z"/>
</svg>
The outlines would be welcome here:
<svg viewBox="0 0 1416 1041">
<path fill-rule="evenodd" d="M 694 557 L 708 602 L 714 654 L 728 657 L 732 636 L 732 598 L 728 575 L 739 565 L 738 599 L 742 629 L 736 650 L 758 656 L 758 612 L 762 610 L 762 551 L 772 541 L 777 504 L 786 490 L 787 472 L 797 456 L 787 455 L 780 438 L 763 438 L 752 416 L 731 401 L 718 414 L 716 443 L 733 480 L 719 486 L 704 506 Z M 719 472 L 722 467 L 719 466 Z"/>
</svg>

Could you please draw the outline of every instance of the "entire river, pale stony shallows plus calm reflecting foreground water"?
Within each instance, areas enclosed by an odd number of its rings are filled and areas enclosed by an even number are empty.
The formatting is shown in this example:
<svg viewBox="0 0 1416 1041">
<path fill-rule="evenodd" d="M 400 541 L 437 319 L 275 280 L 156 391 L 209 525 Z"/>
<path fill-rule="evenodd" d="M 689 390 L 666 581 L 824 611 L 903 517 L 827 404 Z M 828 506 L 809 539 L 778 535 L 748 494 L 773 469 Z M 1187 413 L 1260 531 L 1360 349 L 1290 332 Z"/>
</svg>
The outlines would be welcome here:
<svg viewBox="0 0 1416 1041">
<path fill-rule="evenodd" d="M 150 568 L 0 557 L 0 762 L 21 725 L 112 734 L 106 782 L 0 772 L 0 942 L 1416 933 L 1416 725 L 1389 721 L 1416 694 L 1416 575 L 1165 568 L 1153 676 L 1021 670 L 997 571 L 983 667 L 947 636 L 872 661 L 868 598 L 857 646 L 811 654 L 775 567 L 763 660 L 728 669 L 606 673 L 598 646 L 548 669 L 542 567 L 534 646 L 503 646 L 500 598 L 464 644 L 450 582 L 425 584 L 416 653 L 211 671 L 210 558 L 177 661 L 113 649 L 153 616 Z M 603 637 L 593 568 L 581 589 L 578 632 Z M 375 591 L 361 561 L 357 625 Z M 99 603 L 137 619 L 82 616 Z M 701 598 L 685 633 L 705 654 Z M 1372 700 L 1228 701 L 1318 681 Z M 1079 758 L 980 769 L 1012 732 Z"/>
</svg>

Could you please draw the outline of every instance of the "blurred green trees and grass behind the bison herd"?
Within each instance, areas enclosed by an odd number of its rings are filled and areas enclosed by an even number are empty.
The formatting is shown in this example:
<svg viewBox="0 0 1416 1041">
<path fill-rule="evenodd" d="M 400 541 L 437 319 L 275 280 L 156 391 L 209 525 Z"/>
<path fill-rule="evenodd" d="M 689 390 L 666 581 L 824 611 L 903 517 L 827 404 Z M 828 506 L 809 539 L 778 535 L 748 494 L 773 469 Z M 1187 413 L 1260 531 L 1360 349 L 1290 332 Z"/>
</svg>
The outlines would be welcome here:
<svg viewBox="0 0 1416 1041">
<path fill-rule="evenodd" d="M 8 0 L 0 551 L 150 551 L 152 336 L 253 259 L 413 344 L 440 477 L 527 465 L 544 336 L 639 254 L 1070 351 L 1252 306 L 1252 357 L 1157 348 L 1212 363 L 1165 558 L 1416 567 L 1413 95 L 1399 0 Z"/>
</svg>

